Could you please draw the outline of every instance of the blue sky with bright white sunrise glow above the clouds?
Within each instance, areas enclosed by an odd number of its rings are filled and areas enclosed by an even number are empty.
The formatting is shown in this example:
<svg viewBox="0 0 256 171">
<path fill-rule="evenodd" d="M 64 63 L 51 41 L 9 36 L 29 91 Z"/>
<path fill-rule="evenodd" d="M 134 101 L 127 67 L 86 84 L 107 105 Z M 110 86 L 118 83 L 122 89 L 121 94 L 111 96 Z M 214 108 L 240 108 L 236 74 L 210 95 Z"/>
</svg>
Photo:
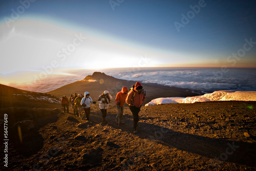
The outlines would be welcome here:
<svg viewBox="0 0 256 171">
<path fill-rule="evenodd" d="M 255 11 L 255 1 L 1 1 L 0 83 L 70 68 L 256 67 Z"/>
</svg>

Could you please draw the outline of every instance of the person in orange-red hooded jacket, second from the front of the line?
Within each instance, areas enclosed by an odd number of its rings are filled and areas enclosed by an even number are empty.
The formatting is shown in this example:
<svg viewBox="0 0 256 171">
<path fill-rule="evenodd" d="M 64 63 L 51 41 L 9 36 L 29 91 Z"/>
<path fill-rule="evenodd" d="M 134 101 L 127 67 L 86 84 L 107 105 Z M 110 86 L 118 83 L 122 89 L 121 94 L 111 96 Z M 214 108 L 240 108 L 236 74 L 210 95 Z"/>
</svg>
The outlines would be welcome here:
<svg viewBox="0 0 256 171">
<path fill-rule="evenodd" d="M 127 87 L 122 87 L 122 90 L 119 91 L 117 94 L 116 94 L 116 99 L 115 99 L 115 102 L 116 102 L 116 108 L 117 108 L 117 115 L 116 115 L 116 122 L 118 123 L 118 118 L 119 118 L 119 122 L 121 124 L 124 124 L 123 123 L 123 105 L 125 103 L 125 99 L 127 97 L 127 93 L 128 93 L 128 88 Z"/>
</svg>

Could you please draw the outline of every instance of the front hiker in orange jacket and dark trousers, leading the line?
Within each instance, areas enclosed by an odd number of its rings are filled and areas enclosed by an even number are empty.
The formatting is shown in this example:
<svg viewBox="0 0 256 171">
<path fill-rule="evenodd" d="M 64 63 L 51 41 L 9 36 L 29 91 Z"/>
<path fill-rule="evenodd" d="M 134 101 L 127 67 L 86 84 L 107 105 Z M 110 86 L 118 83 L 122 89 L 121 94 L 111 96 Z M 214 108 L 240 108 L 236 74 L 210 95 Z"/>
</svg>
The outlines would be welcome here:
<svg viewBox="0 0 256 171">
<path fill-rule="evenodd" d="M 143 87 L 139 82 L 136 82 L 135 88 L 131 90 L 125 102 L 129 105 L 131 112 L 133 113 L 133 132 L 138 133 L 137 131 L 137 124 L 139 121 L 139 112 L 141 105 L 145 102 L 146 93 L 142 89 Z"/>
</svg>

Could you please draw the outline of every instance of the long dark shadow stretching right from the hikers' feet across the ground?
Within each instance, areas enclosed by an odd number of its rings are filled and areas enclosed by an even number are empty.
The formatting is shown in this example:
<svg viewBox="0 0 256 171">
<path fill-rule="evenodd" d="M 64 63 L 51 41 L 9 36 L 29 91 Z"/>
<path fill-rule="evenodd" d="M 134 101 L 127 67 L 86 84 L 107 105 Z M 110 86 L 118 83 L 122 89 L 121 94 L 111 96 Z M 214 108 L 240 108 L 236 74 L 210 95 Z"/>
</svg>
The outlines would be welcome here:
<svg viewBox="0 0 256 171">
<path fill-rule="evenodd" d="M 115 122 L 115 116 L 116 114 L 107 115 L 109 121 L 108 125 L 132 133 L 133 116 L 124 118 L 125 125 L 121 125 L 120 127 L 118 127 Z M 142 139 L 157 140 L 158 143 L 167 145 L 170 148 L 177 148 L 189 153 L 218 159 L 218 162 L 227 161 L 253 167 L 256 166 L 256 143 L 231 141 L 181 133 L 141 122 L 139 123 L 139 133 L 135 135 Z"/>
</svg>

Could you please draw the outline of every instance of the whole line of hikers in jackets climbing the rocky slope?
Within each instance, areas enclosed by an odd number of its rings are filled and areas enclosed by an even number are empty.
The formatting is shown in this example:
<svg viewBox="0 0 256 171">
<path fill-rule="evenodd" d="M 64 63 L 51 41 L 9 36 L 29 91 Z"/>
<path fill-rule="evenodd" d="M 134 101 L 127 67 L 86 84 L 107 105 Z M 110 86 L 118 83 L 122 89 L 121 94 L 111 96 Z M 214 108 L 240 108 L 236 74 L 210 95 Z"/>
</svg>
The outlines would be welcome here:
<svg viewBox="0 0 256 171">
<path fill-rule="evenodd" d="M 133 132 L 137 133 L 137 124 L 139 121 L 139 112 L 142 104 L 145 101 L 146 93 L 145 90 L 142 89 L 142 85 L 139 82 L 136 82 L 135 86 L 133 85 L 130 90 L 127 87 L 122 87 L 122 90 L 116 94 L 115 104 L 117 108 L 117 116 L 116 122 L 119 124 L 124 124 L 123 122 L 123 107 L 124 104 L 127 103 L 131 112 L 133 113 Z M 110 95 L 108 90 L 105 90 L 98 97 L 99 109 L 102 114 L 102 123 L 106 124 L 106 110 L 109 108 L 109 103 L 112 100 L 112 96 Z M 80 117 L 84 120 L 90 119 L 90 111 L 91 104 L 96 104 L 95 101 L 90 97 L 90 93 L 88 91 L 84 92 L 84 95 L 74 93 L 70 95 L 70 98 L 66 95 L 62 96 L 61 105 L 63 107 L 63 112 L 69 113 L 69 104 L 72 105 L 72 109 L 74 115 Z M 96 105 L 97 107 L 97 105 Z M 84 112 L 82 112 L 84 110 Z M 85 113 L 83 115 L 82 113 Z"/>
</svg>

